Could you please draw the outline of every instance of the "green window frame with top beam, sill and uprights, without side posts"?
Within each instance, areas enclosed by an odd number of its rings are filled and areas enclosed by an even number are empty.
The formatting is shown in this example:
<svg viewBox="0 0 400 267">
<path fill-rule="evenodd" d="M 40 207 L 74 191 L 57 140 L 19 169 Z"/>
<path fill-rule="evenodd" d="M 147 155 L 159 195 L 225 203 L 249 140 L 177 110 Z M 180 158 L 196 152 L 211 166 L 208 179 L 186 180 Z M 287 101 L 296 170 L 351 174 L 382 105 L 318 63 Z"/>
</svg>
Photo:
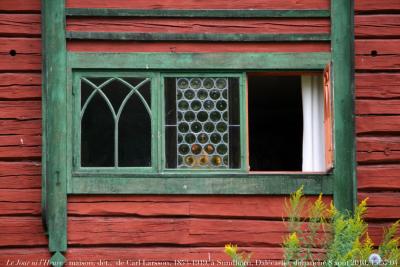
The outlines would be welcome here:
<svg viewBox="0 0 400 267">
<path fill-rule="evenodd" d="M 69 167 L 69 194 L 289 194 L 304 184 L 309 194 L 333 193 L 335 170 L 329 173 L 251 173 L 247 166 L 247 116 L 245 113 L 248 72 L 323 72 L 330 53 L 68 53 L 68 91 L 72 114 L 68 158 L 76 162 L 80 127 L 77 100 L 80 77 L 152 75 L 153 134 L 158 140 L 152 153 L 156 166 L 142 168 Z M 112 67 L 110 67 L 112 66 Z M 89 75 L 89 76 L 88 76 Z M 241 168 L 227 170 L 179 170 L 165 168 L 164 77 L 226 76 L 240 79 Z M 78 89 L 76 89 L 78 88 Z M 158 91 L 158 92 L 157 92 Z M 79 105 L 78 105 L 79 107 Z M 153 110 L 154 107 L 154 110 Z M 156 131 L 154 131 L 156 129 Z M 272 186 L 274 185 L 274 186 Z"/>
</svg>

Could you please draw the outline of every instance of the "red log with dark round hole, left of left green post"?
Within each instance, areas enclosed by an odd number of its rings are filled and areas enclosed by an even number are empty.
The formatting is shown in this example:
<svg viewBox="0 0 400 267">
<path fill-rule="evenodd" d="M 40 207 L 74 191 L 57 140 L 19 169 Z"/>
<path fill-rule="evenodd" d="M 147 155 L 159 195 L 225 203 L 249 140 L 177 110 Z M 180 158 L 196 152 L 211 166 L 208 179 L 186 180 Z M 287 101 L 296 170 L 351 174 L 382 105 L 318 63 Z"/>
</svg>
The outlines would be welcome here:
<svg viewBox="0 0 400 267">
<path fill-rule="evenodd" d="M 37 38 L 0 38 L 0 71 L 40 71 L 40 49 Z"/>
</svg>

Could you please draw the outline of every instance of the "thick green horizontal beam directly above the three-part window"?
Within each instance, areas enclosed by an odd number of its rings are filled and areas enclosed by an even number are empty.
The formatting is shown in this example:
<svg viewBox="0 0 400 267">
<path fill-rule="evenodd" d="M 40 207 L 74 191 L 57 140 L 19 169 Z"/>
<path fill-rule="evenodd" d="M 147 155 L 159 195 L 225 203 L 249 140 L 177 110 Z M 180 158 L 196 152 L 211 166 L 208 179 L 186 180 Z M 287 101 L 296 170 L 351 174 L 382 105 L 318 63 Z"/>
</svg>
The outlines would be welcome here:
<svg viewBox="0 0 400 267">
<path fill-rule="evenodd" d="M 148 70 L 323 70 L 330 58 L 330 53 L 68 53 L 71 68 Z"/>
</svg>

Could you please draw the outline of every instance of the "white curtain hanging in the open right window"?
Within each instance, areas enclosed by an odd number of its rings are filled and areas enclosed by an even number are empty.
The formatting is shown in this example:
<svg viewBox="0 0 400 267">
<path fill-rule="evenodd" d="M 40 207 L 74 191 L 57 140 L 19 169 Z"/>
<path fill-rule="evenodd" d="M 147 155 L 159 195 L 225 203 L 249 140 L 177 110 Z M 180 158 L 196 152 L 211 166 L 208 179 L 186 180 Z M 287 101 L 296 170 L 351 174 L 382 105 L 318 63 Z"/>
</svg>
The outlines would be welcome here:
<svg viewBox="0 0 400 267">
<path fill-rule="evenodd" d="M 325 171 L 324 90 L 320 75 L 301 77 L 303 172 Z"/>
</svg>

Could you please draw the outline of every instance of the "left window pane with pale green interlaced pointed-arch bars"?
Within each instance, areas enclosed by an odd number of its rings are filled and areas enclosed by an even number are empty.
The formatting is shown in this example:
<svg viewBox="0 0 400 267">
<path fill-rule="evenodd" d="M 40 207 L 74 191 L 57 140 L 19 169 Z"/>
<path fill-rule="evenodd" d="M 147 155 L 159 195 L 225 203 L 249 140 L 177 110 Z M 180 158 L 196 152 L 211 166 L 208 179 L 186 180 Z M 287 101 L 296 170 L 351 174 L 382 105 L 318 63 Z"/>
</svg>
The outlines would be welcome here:
<svg viewBox="0 0 400 267">
<path fill-rule="evenodd" d="M 149 78 L 81 78 L 81 166 L 151 166 Z"/>
</svg>

